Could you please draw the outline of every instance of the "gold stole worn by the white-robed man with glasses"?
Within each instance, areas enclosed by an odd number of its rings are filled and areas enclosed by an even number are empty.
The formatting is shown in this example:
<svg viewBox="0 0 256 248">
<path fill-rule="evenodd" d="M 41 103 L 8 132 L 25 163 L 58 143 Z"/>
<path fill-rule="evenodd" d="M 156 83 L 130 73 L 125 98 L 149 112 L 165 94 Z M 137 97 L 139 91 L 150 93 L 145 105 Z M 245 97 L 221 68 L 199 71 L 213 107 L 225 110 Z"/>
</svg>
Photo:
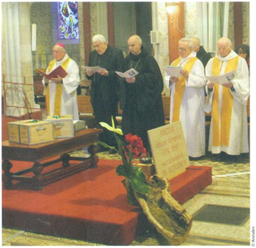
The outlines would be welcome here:
<svg viewBox="0 0 256 248">
<path fill-rule="evenodd" d="M 183 69 L 186 69 L 190 73 L 190 71 L 192 70 L 192 67 L 195 64 L 195 61 L 197 61 L 196 57 L 188 59 L 187 63 L 184 65 Z M 180 62 L 180 58 L 176 59 L 172 63 L 172 66 L 178 66 L 179 62 Z M 186 82 L 186 78 L 184 76 L 179 76 L 179 79 L 175 85 L 172 122 L 179 121 L 179 113 L 180 113 L 180 107 L 182 106 L 185 82 Z"/>
</svg>

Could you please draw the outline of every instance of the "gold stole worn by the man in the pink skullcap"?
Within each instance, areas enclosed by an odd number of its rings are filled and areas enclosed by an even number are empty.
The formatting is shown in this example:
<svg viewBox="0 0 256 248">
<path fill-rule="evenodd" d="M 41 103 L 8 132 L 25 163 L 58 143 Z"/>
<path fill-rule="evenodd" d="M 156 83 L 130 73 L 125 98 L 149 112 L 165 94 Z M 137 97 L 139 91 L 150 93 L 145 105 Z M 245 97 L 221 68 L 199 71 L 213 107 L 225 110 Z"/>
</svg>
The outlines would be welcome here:
<svg viewBox="0 0 256 248">
<path fill-rule="evenodd" d="M 67 66 L 69 65 L 69 61 L 71 61 L 70 58 L 66 59 L 61 66 L 64 70 L 67 70 Z M 49 63 L 49 72 L 52 71 L 55 65 L 55 60 L 52 60 Z M 62 96 L 62 89 L 63 84 L 56 84 L 55 89 L 55 98 L 54 98 L 54 115 L 60 115 L 61 114 L 61 96 Z M 47 86 L 46 90 L 46 108 L 47 108 L 47 115 L 50 115 L 50 87 Z"/>
</svg>

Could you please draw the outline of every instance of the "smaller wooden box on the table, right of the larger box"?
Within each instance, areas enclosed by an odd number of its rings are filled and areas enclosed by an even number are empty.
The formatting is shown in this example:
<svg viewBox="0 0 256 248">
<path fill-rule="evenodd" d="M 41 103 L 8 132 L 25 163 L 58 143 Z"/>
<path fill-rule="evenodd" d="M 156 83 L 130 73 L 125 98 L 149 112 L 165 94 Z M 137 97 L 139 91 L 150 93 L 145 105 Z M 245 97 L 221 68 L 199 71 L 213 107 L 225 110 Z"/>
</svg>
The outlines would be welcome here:
<svg viewBox="0 0 256 248">
<path fill-rule="evenodd" d="M 51 122 L 54 126 L 54 139 L 74 137 L 74 124 L 72 115 L 47 116 L 46 121 Z"/>
</svg>

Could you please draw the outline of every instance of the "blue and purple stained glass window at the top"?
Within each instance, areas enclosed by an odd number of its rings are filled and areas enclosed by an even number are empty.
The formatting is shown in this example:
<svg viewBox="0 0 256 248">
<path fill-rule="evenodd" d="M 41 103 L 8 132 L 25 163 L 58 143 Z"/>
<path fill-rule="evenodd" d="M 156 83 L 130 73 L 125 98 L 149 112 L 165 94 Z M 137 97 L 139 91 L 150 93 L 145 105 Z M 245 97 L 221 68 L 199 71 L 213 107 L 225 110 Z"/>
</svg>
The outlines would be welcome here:
<svg viewBox="0 0 256 248">
<path fill-rule="evenodd" d="M 58 2 L 59 39 L 79 39 L 77 1 Z"/>
</svg>

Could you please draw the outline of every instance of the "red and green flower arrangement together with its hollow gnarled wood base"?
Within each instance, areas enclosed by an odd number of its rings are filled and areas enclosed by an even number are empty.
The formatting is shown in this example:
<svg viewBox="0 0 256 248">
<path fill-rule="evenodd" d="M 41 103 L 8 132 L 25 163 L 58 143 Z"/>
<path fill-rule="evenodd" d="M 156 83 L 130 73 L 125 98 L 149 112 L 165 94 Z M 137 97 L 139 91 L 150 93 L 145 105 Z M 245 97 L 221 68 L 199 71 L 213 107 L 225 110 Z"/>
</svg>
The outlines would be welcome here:
<svg viewBox="0 0 256 248">
<path fill-rule="evenodd" d="M 116 172 L 125 177 L 128 203 L 142 207 L 149 222 L 170 244 L 181 244 L 192 227 L 192 217 L 171 196 L 167 179 L 154 174 L 149 185 L 142 169 L 132 164 L 134 158 L 147 159 L 142 139 L 132 134 L 124 136 L 122 129 L 114 127 L 113 118 L 112 127 L 104 122 L 99 124 L 114 132 L 117 140 L 117 152 L 122 157 L 122 164 L 117 167 Z M 103 142 L 99 144 L 109 147 Z"/>
</svg>

